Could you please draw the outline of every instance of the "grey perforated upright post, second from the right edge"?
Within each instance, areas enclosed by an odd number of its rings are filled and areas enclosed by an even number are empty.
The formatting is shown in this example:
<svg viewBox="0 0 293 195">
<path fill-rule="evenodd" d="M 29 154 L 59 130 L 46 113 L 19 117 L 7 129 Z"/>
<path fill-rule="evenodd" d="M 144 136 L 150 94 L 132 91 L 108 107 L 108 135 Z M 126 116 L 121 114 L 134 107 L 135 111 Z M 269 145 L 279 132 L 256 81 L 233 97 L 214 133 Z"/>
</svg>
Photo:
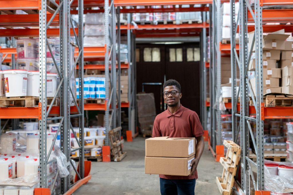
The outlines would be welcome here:
<svg viewBox="0 0 293 195">
<path fill-rule="evenodd" d="M 246 156 L 249 153 L 249 140 L 248 140 L 248 126 L 246 123 L 246 116 L 248 116 L 248 86 L 246 83 L 246 72 L 248 66 L 248 34 L 247 34 L 247 20 L 246 20 L 246 2 L 244 0 L 239 1 L 240 14 L 240 40 L 239 40 L 239 61 L 240 61 L 240 131 L 241 131 L 241 186 L 244 193 L 249 192 L 249 175 L 248 175 L 248 162 Z"/>
</svg>

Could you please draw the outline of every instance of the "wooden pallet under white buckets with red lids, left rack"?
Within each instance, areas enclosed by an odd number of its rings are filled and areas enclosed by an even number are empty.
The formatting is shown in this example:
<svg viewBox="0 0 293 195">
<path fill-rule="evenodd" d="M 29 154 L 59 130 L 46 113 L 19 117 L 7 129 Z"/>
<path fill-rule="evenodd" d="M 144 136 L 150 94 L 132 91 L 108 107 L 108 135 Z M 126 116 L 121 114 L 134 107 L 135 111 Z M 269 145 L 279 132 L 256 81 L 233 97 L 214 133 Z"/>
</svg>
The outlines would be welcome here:
<svg viewBox="0 0 293 195">
<path fill-rule="evenodd" d="M 53 98 L 47 98 L 47 105 L 50 105 Z M 0 107 L 38 107 L 39 97 L 22 96 L 22 97 L 0 97 Z M 53 106 L 57 106 L 57 98 Z"/>
</svg>

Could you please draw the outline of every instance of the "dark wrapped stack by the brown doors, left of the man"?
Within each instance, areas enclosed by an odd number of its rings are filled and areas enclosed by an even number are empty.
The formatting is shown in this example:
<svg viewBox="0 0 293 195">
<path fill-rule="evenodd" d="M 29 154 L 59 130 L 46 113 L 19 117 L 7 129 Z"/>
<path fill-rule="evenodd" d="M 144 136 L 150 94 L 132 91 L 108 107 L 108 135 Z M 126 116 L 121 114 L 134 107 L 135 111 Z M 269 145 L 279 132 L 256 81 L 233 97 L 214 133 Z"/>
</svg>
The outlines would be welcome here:
<svg viewBox="0 0 293 195">
<path fill-rule="evenodd" d="M 153 93 L 140 93 L 136 95 L 136 99 L 138 122 L 144 134 L 144 131 L 150 130 L 156 118 L 155 98 Z"/>
</svg>

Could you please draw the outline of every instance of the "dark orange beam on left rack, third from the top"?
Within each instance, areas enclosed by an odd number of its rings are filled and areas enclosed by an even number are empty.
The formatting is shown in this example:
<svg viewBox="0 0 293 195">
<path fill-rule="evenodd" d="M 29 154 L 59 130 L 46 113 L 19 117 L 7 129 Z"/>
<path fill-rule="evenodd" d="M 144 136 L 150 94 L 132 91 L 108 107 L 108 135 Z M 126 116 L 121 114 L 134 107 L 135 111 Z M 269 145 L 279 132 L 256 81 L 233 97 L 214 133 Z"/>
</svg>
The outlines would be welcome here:
<svg viewBox="0 0 293 195">
<path fill-rule="evenodd" d="M 1 9 L 1 8 L 0 8 Z M 75 32 L 78 33 L 78 28 L 75 28 Z M 70 29 L 71 36 L 74 36 L 73 29 Z M 0 29 L 0 37 L 39 37 L 39 29 Z M 49 28 L 47 30 L 48 37 L 59 37 L 59 28 Z"/>
</svg>

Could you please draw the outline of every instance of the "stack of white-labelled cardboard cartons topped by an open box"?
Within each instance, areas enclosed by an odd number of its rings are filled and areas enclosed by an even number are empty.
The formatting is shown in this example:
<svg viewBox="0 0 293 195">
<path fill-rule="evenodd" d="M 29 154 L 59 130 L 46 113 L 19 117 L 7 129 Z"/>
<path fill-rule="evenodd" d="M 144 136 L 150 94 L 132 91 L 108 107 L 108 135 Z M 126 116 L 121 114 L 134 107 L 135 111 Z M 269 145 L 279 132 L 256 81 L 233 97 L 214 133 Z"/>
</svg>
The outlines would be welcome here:
<svg viewBox="0 0 293 195">
<path fill-rule="evenodd" d="M 249 33 L 249 48 L 252 44 L 253 34 L 254 32 Z M 278 64 L 280 61 L 281 51 L 286 48 L 287 42 L 285 40 L 288 36 L 289 35 L 285 35 L 284 31 L 281 30 L 269 33 L 263 38 L 263 95 L 268 93 L 284 93 L 280 87 L 280 78 L 284 76 L 282 76 L 282 69 L 278 66 Z M 255 45 L 253 46 L 253 51 L 255 51 Z M 250 71 L 255 71 L 255 64 L 255 59 L 250 61 L 248 67 Z M 250 79 L 254 95 L 256 85 L 255 81 L 255 78 Z M 286 87 L 286 89 L 288 88 Z"/>
</svg>

